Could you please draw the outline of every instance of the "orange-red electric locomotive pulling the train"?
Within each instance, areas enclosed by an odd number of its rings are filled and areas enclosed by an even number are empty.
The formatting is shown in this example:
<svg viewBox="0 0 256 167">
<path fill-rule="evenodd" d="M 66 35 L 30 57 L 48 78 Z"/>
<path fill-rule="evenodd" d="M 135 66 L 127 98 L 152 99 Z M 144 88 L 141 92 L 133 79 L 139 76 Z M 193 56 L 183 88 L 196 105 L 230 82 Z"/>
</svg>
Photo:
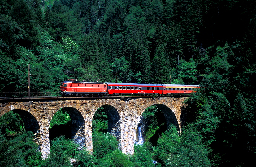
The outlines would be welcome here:
<svg viewBox="0 0 256 167">
<path fill-rule="evenodd" d="M 107 85 L 97 82 L 72 82 L 64 81 L 60 85 L 63 96 L 93 96 L 107 93 Z"/>
</svg>

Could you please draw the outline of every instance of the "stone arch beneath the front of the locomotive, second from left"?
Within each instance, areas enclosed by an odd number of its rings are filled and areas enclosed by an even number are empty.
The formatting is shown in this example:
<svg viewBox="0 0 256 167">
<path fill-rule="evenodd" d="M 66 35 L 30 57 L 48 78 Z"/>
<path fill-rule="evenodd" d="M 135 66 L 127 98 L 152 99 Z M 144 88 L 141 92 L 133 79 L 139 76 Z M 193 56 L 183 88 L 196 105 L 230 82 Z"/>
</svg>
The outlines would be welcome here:
<svg viewBox="0 0 256 167">
<path fill-rule="evenodd" d="M 53 116 L 56 114 L 56 112 L 59 111 L 59 109 L 64 109 L 69 114 L 71 119 L 70 137 L 75 143 L 79 144 L 79 147 L 78 147 L 79 150 L 83 149 L 84 147 L 86 147 L 85 111 L 75 103 L 63 103 L 63 104 L 57 105 L 52 109 L 47 120 L 48 122 L 47 127 L 49 131 L 50 131 L 49 129 L 50 122 Z"/>
</svg>

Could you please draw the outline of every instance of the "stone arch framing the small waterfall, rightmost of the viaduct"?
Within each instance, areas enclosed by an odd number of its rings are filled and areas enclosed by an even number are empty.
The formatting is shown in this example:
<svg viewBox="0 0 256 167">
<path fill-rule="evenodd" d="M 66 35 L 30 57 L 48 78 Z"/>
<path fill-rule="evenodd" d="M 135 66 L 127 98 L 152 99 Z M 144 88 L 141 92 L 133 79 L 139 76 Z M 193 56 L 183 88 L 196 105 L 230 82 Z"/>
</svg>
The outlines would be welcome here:
<svg viewBox="0 0 256 167">
<path fill-rule="evenodd" d="M 142 105 L 137 112 L 137 120 L 135 120 L 136 124 L 139 123 L 139 119 L 142 113 L 152 105 L 156 105 L 163 112 L 166 119 L 167 128 L 169 127 L 170 124 L 174 124 L 175 127 L 177 128 L 177 131 L 181 132 L 180 110 L 178 110 L 170 102 L 161 99 L 150 100 L 149 102 Z"/>
</svg>

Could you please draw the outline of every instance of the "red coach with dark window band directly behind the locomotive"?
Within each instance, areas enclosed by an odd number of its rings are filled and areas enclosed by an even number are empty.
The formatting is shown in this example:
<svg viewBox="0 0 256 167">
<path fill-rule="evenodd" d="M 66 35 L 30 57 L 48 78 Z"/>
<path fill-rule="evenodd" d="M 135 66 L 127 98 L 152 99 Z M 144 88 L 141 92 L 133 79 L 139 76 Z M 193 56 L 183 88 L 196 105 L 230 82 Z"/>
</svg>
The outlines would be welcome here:
<svg viewBox="0 0 256 167">
<path fill-rule="evenodd" d="M 162 94 L 161 84 L 134 84 L 134 83 L 111 83 L 106 82 L 110 95 L 146 95 Z"/>
</svg>

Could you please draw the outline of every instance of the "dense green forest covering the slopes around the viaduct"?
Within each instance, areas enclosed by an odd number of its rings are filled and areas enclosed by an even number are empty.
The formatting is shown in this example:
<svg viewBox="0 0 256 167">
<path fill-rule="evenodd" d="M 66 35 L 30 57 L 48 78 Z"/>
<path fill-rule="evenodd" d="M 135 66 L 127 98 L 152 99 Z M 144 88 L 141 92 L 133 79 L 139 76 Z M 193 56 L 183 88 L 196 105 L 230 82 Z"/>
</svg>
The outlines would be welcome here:
<svg viewBox="0 0 256 167">
<path fill-rule="evenodd" d="M 250 166 L 256 157 L 255 11 L 253 0 L 1 0 L 0 93 L 28 92 L 28 64 L 31 92 L 57 93 L 67 79 L 114 82 L 116 71 L 118 82 L 128 83 L 168 84 L 171 75 L 172 84 L 201 85 L 186 101 L 181 135 L 170 127 L 153 147 L 137 146 L 134 157 L 105 135 L 111 151 L 75 153 L 76 165 L 152 166 L 153 157 L 158 166 Z M 0 125 L 1 164 L 5 155 L 16 166 L 41 164 L 36 146 L 26 144 L 32 134 L 9 121 Z M 46 166 L 59 157 L 66 164 L 62 155 L 73 154 L 54 143 Z"/>
</svg>

